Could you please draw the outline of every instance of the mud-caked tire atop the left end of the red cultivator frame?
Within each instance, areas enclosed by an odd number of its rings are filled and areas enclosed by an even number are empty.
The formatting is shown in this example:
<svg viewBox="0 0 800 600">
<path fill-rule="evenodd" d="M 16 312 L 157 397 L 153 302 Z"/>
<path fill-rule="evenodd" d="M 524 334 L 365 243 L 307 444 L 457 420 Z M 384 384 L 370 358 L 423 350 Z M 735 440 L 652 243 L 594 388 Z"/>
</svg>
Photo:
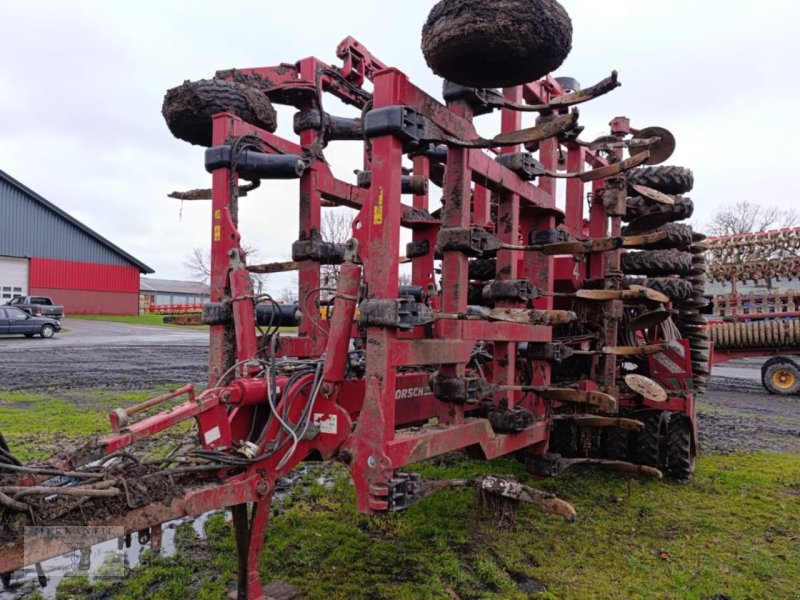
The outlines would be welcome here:
<svg viewBox="0 0 800 600">
<path fill-rule="evenodd" d="M 262 91 L 224 79 L 185 81 L 167 91 L 161 107 L 172 135 L 198 146 L 211 145 L 211 117 L 221 112 L 269 132 L 278 124 L 275 109 Z"/>
</svg>

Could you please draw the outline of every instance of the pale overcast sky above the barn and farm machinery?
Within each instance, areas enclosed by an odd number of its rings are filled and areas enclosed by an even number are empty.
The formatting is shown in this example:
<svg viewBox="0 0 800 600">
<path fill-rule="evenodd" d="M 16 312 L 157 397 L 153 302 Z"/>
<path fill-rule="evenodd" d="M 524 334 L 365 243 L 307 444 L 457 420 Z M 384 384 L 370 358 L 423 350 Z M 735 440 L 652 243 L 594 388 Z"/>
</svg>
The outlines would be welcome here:
<svg viewBox="0 0 800 600">
<path fill-rule="evenodd" d="M 311 55 L 339 64 L 336 46 L 352 35 L 439 97 L 441 81 L 419 49 L 433 4 L 3 0 L 0 169 L 153 267 L 156 277 L 185 278 L 186 256 L 208 245 L 209 203 L 181 206 L 166 194 L 209 187 L 210 176 L 203 149 L 167 130 L 165 90 L 223 68 Z M 727 202 L 797 201 L 800 3 L 563 4 L 573 20 L 573 49 L 556 75 L 588 86 L 617 69 L 622 82 L 581 107 L 583 137 L 603 133 L 616 115 L 636 127 L 670 129 L 677 138 L 670 164 L 695 173 L 695 223 Z M 292 112 L 279 109 L 279 133 L 293 135 Z M 491 125 L 479 129 L 492 135 Z M 337 176 L 355 181 L 354 144 L 334 144 L 326 156 Z M 296 182 L 264 182 L 242 200 L 243 235 L 265 259 L 289 257 L 296 190 Z M 277 277 L 268 285 L 285 283 Z"/>
</svg>

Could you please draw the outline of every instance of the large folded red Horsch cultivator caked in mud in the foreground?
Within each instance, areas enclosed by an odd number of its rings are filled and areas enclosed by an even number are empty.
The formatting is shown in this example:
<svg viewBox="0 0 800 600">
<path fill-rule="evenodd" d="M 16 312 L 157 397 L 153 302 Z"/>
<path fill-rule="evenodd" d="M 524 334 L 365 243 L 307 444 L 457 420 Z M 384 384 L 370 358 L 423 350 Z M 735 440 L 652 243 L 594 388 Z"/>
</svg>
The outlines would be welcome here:
<svg viewBox="0 0 800 600">
<path fill-rule="evenodd" d="M 209 385 L 117 409 L 113 434 L 41 465 L 4 447 L 0 571 L 58 553 L 54 540 L 23 553 L 33 523 L 115 524 L 157 543 L 161 523 L 231 507 L 240 597 L 262 598 L 276 480 L 305 460 L 346 465 L 368 513 L 451 485 L 401 469 L 455 450 L 513 454 L 537 475 L 575 464 L 692 473 L 709 359 L 705 262 L 703 236 L 674 222 L 691 215 L 681 195 L 691 171 L 655 166 L 672 153 L 671 134 L 615 117 L 608 136 L 580 139 L 573 106 L 614 90 L 616 73 L 583 90 L 546 75 L 552 66 L 533 83 L 446 81 L 441 103 L 352 38 L 337 55 L 341 66 L 307 58 L 220 71 L 168 92 L 172 132 L 208 146 Z M 356 116 L 327 113 L 328 95 Z M 297 109 L 295 139 L 274 133 L 272 103 Z M 495 111 L 500 133 L 480 137 L 474 117 Z M 526 112 L 537 118 L 523 128 Z M 355 182 L 325 160 L 340 140 L 364 146 Z M 290 263 L 250 265 L 238 206 L 274 179 L 298 181 L 299 239 Z M 357 211 L 345 244 L 322 239 L 330 206 Z M 326 289 L 320 272 L 332 264 L 338 281 Z M 296 305 L 253 291 L 251 273 L 283 269 L 298 270 Z M 333 298 L 325 318 L 323 293 Z M 297 334 L 281 335 L 287 325 Z M 130 452 L 191 419 L 193 447 L 153 461 Z M 574 518 L 567 503 L 508 480 L 468 483 Z"/>
</svg>

